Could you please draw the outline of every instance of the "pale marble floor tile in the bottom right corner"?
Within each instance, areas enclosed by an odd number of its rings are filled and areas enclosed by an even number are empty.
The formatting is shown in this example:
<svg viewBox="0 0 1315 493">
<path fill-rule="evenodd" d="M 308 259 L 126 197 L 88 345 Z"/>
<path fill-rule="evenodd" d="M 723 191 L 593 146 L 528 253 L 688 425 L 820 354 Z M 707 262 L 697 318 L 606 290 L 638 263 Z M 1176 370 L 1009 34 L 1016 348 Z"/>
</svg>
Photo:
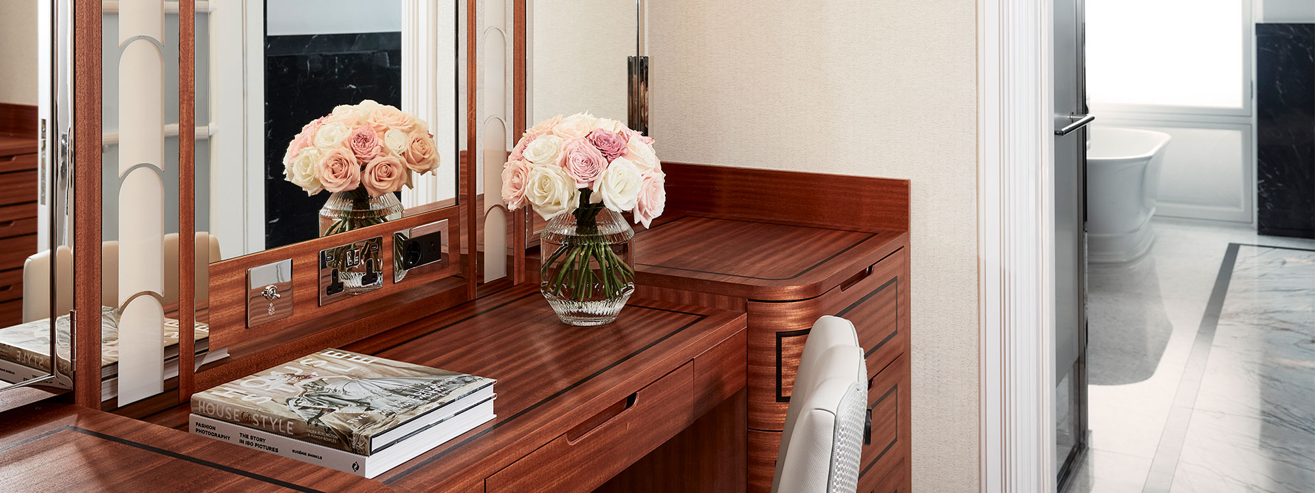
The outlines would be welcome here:
<svg viewBox="0 0 1315 493">
<path fill-rule="evenodd" d="M 1170 493 L 1315 490 L 1315 434 L 1264 418 L 1197 409 Z"/>
</svg>

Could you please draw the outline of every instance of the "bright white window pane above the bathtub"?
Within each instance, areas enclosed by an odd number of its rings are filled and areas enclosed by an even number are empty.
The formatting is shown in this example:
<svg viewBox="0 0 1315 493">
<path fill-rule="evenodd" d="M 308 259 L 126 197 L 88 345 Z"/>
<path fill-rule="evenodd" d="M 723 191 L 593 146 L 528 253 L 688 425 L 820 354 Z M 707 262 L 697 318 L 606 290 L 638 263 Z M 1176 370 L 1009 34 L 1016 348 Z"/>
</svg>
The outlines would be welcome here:
<svg viewBox="0 0 1315 493">
<path fill-rule="evenodd" d="M 1086 3 L 1091 104 L 1243 108 L 1241 0 Z"/>
</svg>

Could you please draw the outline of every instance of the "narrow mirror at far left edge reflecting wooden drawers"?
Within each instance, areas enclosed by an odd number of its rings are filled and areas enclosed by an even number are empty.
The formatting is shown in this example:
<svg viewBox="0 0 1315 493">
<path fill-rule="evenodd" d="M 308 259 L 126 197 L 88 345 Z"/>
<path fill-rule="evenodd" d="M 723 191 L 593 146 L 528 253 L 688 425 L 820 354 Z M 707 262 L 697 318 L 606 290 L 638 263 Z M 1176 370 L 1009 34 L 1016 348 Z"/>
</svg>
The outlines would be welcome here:
<svg viewBox="0 0 1315 493">
<path fill-rule="evenodd" d="M 71 9 L 59 1 L 53 22 L 55 4 L 0 5 L 0 32 L 13 39 L 0 54 L 0 406 L 72 383 L 72 191 L 55 159 L 72 122 Z"/>
</svg>

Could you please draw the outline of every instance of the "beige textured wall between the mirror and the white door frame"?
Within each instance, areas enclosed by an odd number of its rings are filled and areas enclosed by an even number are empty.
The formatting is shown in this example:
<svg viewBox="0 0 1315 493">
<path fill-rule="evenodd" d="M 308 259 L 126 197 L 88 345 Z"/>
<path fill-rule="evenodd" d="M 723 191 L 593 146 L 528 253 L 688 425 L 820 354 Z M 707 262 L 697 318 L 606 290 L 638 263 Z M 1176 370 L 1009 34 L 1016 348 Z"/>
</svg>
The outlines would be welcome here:
<svg viewBox="0 0 1315 493">
<path fill-rule="evenodd" d="M 648 4 L 663 160 L 911 180 L 919 492 L 977 489 L 974 5 Z"/>
</svg>

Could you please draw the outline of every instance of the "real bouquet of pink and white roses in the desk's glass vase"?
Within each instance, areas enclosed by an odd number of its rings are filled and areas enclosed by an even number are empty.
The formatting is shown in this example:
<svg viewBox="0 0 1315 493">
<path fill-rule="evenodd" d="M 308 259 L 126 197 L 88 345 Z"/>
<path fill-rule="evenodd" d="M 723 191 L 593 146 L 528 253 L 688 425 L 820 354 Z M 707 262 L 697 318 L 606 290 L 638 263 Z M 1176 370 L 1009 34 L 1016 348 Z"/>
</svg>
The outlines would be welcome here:
<svg viewBox="0 0 1315 493">
<path fill-rule="evenodd" d="M 615 120 L 576 113 L 525 131 L 502 167 L 502 202 L 529 204 L 544 220 L 575 213 L 589 222 L 606 206 L 648 223 L 667 204 L 654 139 Z"/>
</svg>

